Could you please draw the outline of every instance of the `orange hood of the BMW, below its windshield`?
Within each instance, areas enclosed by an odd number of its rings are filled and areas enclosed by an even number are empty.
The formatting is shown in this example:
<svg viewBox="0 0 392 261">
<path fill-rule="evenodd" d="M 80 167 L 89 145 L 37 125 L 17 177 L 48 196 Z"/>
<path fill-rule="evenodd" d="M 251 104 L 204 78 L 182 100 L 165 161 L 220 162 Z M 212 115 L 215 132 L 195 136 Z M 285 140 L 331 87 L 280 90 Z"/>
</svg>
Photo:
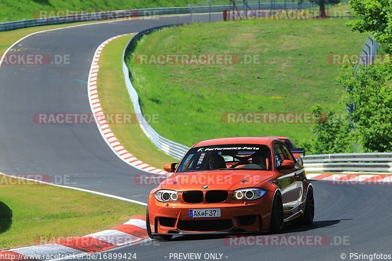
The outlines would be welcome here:
<svg viewBox="0 0 392 261">
<path fill-rule="evenodd" d="M 237 190 L 253 188 L 273 177 L 266 170 L 210 170 L 173 174 L 161 183 L 164 190 Z M 203 188 L 208 186 L 208 188 Z"/>
</svg>

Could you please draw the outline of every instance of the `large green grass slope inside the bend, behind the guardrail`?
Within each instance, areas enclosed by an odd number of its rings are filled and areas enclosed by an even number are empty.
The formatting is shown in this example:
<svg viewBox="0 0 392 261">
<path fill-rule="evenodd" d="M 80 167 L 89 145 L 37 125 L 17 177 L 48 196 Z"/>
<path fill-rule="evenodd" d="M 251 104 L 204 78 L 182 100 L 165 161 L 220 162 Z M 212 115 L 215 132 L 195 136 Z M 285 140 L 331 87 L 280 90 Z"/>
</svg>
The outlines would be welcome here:
<svg viewBox="0 0 392 261">
<path fill-rule="evenodd" d="M 315 103 L 344 110 L 330 54 L 359 53 L 366 34 L 347 20 L 237 21 L 192 24 L 145 36 L 127 57 L 144 113 L 160 115 L 152 127 L 185 145 L 210 138 L 311 137 L 311 124 L 228 124 L 226 113 L 307 113 Z M 140 65 L 138 54 L 256 54 L 260 64 Z"/>
</svg>

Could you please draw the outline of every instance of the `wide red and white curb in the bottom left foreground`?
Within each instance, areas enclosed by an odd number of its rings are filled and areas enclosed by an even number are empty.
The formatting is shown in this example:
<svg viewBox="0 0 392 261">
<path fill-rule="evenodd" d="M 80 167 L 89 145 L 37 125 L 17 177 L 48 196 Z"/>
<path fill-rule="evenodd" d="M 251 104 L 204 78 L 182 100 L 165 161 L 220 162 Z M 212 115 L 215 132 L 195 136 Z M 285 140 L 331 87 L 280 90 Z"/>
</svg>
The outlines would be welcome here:
<svg viewBox="0 0 392 261">
<path fill-rule="evenodd" d="M 146 217 L 136 215 L 123 225 L 84 237 L 63 239 L 54 244 L 44 244 L 0 251 L 0 260 L 45 261 L 69 259 L 85 254 L 106 251 L 122 245 L 139 244 L 146 240 L 149 240 L 146 230 Z"/>
</svg>

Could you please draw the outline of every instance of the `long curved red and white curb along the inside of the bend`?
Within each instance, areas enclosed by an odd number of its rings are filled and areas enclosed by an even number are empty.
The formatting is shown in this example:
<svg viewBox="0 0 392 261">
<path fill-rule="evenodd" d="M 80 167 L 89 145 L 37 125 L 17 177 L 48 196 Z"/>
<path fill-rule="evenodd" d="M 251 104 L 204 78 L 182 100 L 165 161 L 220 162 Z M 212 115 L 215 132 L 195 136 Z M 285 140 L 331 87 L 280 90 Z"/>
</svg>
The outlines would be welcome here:
<svg viewBox="0 0 392 261">
<path fill-rule="evenodd" d="M 127 151 L 124 146 L 119 142 L 119 140 L 116 138 L 112 130 L 110 129 L 109 125 L 107 124 L 107 121 L 105 119 L 105 115 L 102 111 L 101 104 L 99 102 L 99 95 L 98 95 L 98 89 L 97 89 L 97 82 L 99 81 L 98 77 L 98 72 L 99 72 L 99 57 L 101 55 L 102 49 L 111 41 L 123 37 L 125 35 L 132 35 L 132 34 L 122 34 L 118 36 L 114 36 L 103 42 L 96 50 L 95 55 L 94 55 L 94 60 L 91 65 L 90 73 L 89 73 L 89 78 L 88 78 L 88 95 L 89 95 L 89 101 L 90 101 L 90 106 L 91 110 L 93 111 L 94 117 L 97 122 L 97 126 L 99 129 L 99 132 L 101 133 L 103 139 L 105 142 L 109 145 L 109 147 L 113 150 L 113 152 L 126 164 L 133 166 L 135 168 L 138 168 L 143 171 L 147 171 L 149 173 L 153 174 L 169 174 L 169 172 L 166 172 L 165 170 L 149 166 L 147 163 L 137 159 L 134 157 L 129 151 Z"/>
</svg>

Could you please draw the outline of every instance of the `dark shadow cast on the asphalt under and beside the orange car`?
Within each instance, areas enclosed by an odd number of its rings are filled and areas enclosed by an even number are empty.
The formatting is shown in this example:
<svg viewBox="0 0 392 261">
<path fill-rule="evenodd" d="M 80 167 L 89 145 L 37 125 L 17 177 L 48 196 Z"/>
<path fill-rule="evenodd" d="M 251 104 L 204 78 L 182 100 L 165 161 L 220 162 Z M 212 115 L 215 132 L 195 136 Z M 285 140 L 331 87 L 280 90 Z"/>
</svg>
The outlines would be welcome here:
<svg viewBox="0 0 392 261">
<path fill-rule="evenodd" d="M 342 220 L 351 220 L 351 219 L 336 219 L 336 220 L 323 220 L 323 221 L 314 221 L 310 226 L 299 226 L 299 225 L 285 225 L 285 229 L 282 234 L 296 233 L 296 232 L 305 232 L 319 228 L 333 227 L 336 224 L 340 223 Z M 183 240 L 207 240 L 207 239 L 221 239 L 227 237 L 229 235 L 236 236 L 244 236 L 244 237 L 252 237 L 252 236 L 267 236 L 270 235 L 268 232 L 261 233 L 243 233 L 243 234 L 218 234 L 218 235 L 185 235 L 179 237 L 173 237 L 170 241 L 183 241 Z"/>
</svg>

